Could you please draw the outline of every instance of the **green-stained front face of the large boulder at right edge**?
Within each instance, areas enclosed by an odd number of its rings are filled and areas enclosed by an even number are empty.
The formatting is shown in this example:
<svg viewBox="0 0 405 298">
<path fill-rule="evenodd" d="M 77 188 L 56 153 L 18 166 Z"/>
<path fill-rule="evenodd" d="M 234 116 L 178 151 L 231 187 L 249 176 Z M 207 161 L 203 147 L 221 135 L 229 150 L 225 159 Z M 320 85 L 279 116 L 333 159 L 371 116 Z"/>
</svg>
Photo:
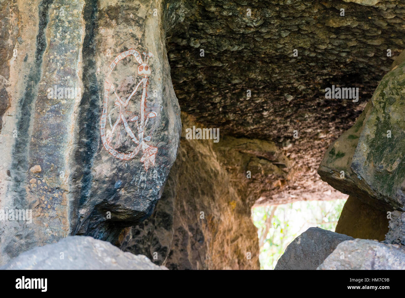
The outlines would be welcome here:
<svg viewBox="0 0 405 298">
<path fill-rule="evenodd" d="M 401 208 L 405 166 L 405 63 L 387 73 L 371 99 L 351 167 L 373 196 Z"/>
</svg>

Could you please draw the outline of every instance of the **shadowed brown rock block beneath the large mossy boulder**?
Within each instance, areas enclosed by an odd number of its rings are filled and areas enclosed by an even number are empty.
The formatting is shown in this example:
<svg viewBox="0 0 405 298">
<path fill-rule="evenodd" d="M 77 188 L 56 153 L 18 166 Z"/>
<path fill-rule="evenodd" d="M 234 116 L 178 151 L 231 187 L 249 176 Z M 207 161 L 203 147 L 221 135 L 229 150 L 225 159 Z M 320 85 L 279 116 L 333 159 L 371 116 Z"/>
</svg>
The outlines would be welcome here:
<svg viewBox="0 0 405 298">
<path fill-rule="evenodd" d="M 387 212 L 354 196 L 349 196 L 337 222 L 335 232 L 353 238 L 383 241 L 388 232 Z"/>
</svg>

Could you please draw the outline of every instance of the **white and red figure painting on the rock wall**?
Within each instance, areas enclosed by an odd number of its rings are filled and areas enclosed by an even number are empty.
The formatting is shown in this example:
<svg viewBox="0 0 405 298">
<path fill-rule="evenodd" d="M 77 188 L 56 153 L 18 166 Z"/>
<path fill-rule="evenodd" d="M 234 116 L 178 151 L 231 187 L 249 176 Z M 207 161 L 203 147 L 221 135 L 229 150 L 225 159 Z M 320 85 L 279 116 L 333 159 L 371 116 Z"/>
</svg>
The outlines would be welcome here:
<svg viewBox="0 0 405 298">
<path fill-rule="evenodd" d="M 137 67 L 137 72 L 138 75 L 142 77 L 141 81 L 136 85 L 135 89 L 132 91 L 132 93 L 128 96 L 128 98 L 124 98 L 123 96 L 119 96 L 116 88 L 114 87 L 114 84 L 110 81 L 110 75 L 117 65 L 117 63 L 128 56 L 132 55 L 136 62 L 138 62 L 138 67 Z M 106 74 L 106 79 L 104 82 L 104 101 L 103 101 L 103 110 L 102 110 L 102 115 L 101 115 L 101 121 L 100 121 L 100 131 L 101 131 L 101 140 L 102 144 L 109 152 L 111 155 L 113 155 L 117 159 L 123 159 L 123 160 L 130 160 L 135 157 L 136 154 L 139 153 L 139 151 L 142 150 L 142 157 L 141 157 L 141 162 L 143 163 L 143 166 L 145 167 L 145 170 L 147 170 L 149 167 L 153 167 L 155 165 L 155 156 L 156 153 L 158 152 L 158 148 L 150 146 L 147 144 L 149 141 L 151 141 L 151 135 L 147 135 L 145 137 L 145 127 L 146 124 L 148 123 L 148 120 L 150 118 L 156 117 L 157 114 L 154 111 L 149 111 L 148 113 L 146 112 L 146 98 L 147 98 L 147 86 L 149 83 L 149 76 L 151 75 L 151 69 L 149 67 L 149 58 L 153 57 L 153 54 L 151 52 L 143 52 L 143 60 L 141 57 L 141 54 L 139 54 L 138 51 L 134 49 L 129 49 L 128 51 L 124 51 L 121 54 L 119 54 L 114 61 L 110 64 L 109 70 Z M 140 107 L 140 112 L 138 115 L 132 114 L 131 111 L 128 110 L 128 105 L 134 101 L 134 94 L 136 91 L 138 91 L 139 87 L 142 86 L 142 98 L 141 98 L 141 107 Z M 106 133 L 105 125 L 107 122 L 107 112 L 108 112 L 108 100 L 109 97 L 113 97 L 115 100 L 114 105 L 115 107 L 110 110 L 108 114 L 108 119 L 109 119 L 109 125 L 111 127 L 111 130 L 109 129 Z M 134 97 L 133 97 L 134 96 Z M 112 124 L 111 122 L 111 113 L 115 110 L 115 114 L 117 114 L 117 120 L 115 120 L 115 123 Z M 127 118 L 127 115 L 130 114 L 130 116 Z M 128 122 L 133 122 L 131 125 Z M 119 132 L 119 126 L 124 126 L 126 136 L 130 137 L 132 141 L 134 142 L 134 150 L 130 153 L 124 153 L 124 152 L 119 152 L 116 150 L 113 146 L 114 138 L 116 137 Z M 136 128 L 137 133 L 136 135 L 133 133 L 132 129 Z"/>
</svg>

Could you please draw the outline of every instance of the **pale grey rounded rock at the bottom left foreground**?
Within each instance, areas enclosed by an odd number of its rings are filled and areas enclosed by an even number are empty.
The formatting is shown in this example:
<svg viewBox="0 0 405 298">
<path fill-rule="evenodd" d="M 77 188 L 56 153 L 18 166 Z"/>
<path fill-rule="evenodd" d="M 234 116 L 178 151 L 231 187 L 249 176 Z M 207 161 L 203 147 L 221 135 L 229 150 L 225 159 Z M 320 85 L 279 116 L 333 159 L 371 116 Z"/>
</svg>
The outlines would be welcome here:
<svg viewBox="0 0 405 298">
<path fill-rule="evenodd" d="M 21 253 L 0 270 L 164 270 L 144 255 L 124 253 L 111 243 L 70 236 Z"/>
</svg>

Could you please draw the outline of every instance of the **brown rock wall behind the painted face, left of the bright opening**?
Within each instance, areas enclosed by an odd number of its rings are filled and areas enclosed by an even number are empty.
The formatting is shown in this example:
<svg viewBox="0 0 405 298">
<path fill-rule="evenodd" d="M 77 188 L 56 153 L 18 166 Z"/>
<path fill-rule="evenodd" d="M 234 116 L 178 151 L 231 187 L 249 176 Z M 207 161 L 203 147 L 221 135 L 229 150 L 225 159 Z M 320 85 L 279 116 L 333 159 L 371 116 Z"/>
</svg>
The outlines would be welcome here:
<svg viewBox="0 0 405 298">
<path fill-rule="evenodd" d="M 187 139 L 186 131 L 201 124 L 187 114 L 182 123 L 162 198 L 152 216 L 125 229 L 116 245 L 169 269 L 260 268 L 251 208 L 260 194 L 278 187 L 275 177 L 286 178 L 288 159 L 271 141 L 221 134 L 218 143 Z"/>
</svg>

